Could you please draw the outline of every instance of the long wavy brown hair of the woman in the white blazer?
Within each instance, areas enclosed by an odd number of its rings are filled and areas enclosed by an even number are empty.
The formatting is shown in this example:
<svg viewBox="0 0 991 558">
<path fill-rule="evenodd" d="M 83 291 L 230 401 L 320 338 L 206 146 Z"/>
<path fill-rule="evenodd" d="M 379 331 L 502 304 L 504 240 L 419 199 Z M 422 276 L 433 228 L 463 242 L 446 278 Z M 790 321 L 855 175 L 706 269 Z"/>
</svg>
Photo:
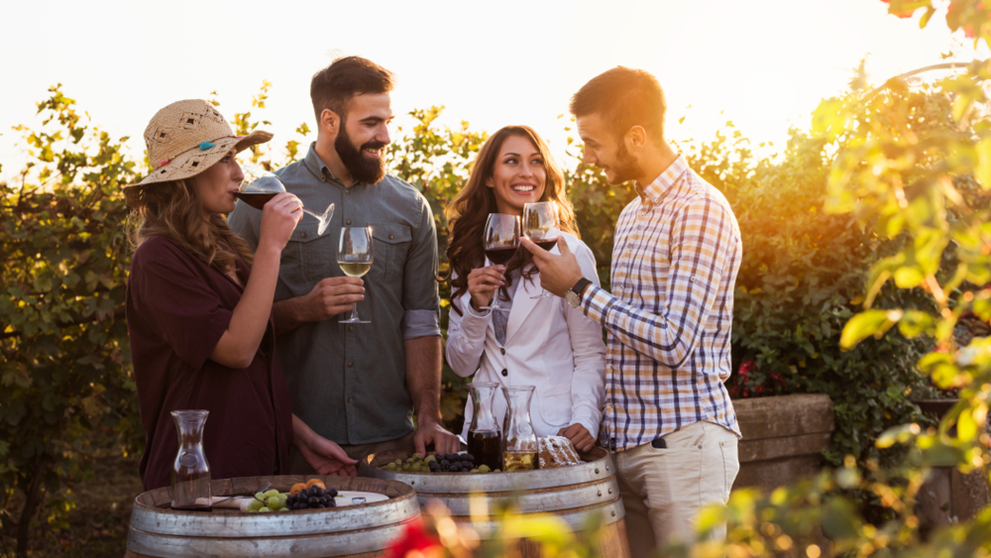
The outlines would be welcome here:
<svg viewBox="0 0 991 558">
<path fill-rule="evenodd" d="M 453 294 L 451 295 L 451 306 L 460 315 L 464 311 L 458 307 L 458 297 L 468 290 L 468 274 L 475 268 L 485 265 L 485 249 L 482 245 L 482 236 L 486 226 L 486 220 L 490 213 L 498 213 L 495 205 L 495 191 L 486 185 L 493 175 L 495 161 L 502 150 L 502 143 L 507 138 L 520 137 L 529 140 L 540 156 L 544 160 L 544 169 L 547 178 L 544 182 L 544 193 L 540 196 L 540 201 L 556 201 L 558 205 L 558 221 L 560 229 L 576 237 L 579 236 L 578 225 L 575 222 L 575 209 L 565 193 L 564 173 L 558 167 L 554 158 L 551 157 L 547 144 L 529 126 L 506 126 L 499 129 L 479 150 L 479 155 L 472 166 L 472 174 L 468 178 L 468 183 L 462 188 L 458 195 L 454 197 L 447 206 L 449 235 L 447 245 L 447 260 L 451 263 L 451 271 L 448 279 L 451 280 Z M 533 280 L 533 274 L 537 273 L 535 266 L 531 266 L 533 256 L 525 249 L 518 250 L 512 260 L 506 264 L 505 281 L 506 285 L 512 283 L 509 274 L 515 270 L 523 270 L 523 279 Z M 503 294 L 506 293 L 502 288 Z"/>
</svg>

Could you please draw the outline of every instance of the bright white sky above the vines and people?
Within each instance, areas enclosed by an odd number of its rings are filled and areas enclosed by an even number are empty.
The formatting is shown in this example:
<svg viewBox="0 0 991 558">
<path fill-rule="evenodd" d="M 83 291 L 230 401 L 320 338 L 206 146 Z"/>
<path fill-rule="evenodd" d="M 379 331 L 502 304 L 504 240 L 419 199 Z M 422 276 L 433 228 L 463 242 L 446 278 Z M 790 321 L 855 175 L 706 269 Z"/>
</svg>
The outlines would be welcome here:
<svg viewBox="0 0 991 558">
<path fill-rule="evenodd" d="M 114 136 L 141 134 L 152 115 L 218 92 L 228 118 L 274 83 L 264 117 L 275 144 L 313 128 L 309 79 L 335 54 L 396 73 L 392 108 L 446 105 L 441 122 L 490 132 L 528 124 L 563 153 L 570 96 L 617 64 L 653 72 L 668 96 L 668 137 L 708 140 L 727 120 L 755 144 L 807 127 L 867 56 L 872 82 L 975 55 L 941 16 L 919 30 L 880 0 L 326 0 L 7 2 L 0 32 L 0 164 L 21 162 L 17 124 L 63 83 Z M 962 43 L 961 43 L 962 42 Z M 688 108 L 691 105 L 691 108 Z M 684 124 L 678 119 L 687 116 Z M 400 122 L 401 123 L 401 122 Z"/>
</svg>

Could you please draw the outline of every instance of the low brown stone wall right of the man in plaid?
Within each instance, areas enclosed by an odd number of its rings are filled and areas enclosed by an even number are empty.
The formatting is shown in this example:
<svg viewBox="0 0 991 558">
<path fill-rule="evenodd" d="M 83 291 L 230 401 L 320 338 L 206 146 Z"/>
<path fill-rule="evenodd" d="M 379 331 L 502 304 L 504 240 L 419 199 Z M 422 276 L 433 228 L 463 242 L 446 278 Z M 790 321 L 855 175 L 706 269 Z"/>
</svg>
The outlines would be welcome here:
<svg viewBox="0 0 991 558">
<path fill-rule="evenodd" d="M 733 401 L 743 439 L 733 488 L 773 489 L 815 475 L 833 430 L 832 400 L 798 393 Z"/>
</svg>

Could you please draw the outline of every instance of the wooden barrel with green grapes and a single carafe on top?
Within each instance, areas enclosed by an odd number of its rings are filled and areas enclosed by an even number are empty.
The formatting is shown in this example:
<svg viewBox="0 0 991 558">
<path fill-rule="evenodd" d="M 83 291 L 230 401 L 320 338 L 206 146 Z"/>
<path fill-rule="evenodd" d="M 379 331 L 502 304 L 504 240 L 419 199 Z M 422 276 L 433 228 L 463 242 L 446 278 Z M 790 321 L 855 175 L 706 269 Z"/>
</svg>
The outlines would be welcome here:
<svg viewBox="0 0 991 558">
<path fill-rule="evenodd" d="M 142 494 L 134 502 L 127 558 L 282 556 L 292 558 L 382 556 L 403 525 L 419 516 L 415 493 L 402 483 L 355 477 L 285 475 L 213 481 L 213 496 L 252 495 L 266 483 L 288 492 L 294 483 L 320 479 L 328 489 L 384 494 L 385 502 L 331 509 L 248 513 L 171 509 L 170 489 Z"/>
</svg>

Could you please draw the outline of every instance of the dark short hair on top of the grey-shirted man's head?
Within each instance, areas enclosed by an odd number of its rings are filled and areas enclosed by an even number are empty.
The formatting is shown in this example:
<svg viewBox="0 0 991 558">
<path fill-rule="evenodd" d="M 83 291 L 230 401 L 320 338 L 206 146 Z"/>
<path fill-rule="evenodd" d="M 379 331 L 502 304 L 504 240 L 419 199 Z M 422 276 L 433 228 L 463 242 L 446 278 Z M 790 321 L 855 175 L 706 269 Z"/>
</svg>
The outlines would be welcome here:
<svg viewBox="0 0 991 558">
<path fill-rule="evenodd" d="M 337 58 L 310 80 L 310 100 L 317 124 L 324 109 L 329 108 L 344 121 L 348 104 L 355 95 L 388 93 L 392 88 L 392 72 L 372 60 L 361 56 Z"/>
</svg>

